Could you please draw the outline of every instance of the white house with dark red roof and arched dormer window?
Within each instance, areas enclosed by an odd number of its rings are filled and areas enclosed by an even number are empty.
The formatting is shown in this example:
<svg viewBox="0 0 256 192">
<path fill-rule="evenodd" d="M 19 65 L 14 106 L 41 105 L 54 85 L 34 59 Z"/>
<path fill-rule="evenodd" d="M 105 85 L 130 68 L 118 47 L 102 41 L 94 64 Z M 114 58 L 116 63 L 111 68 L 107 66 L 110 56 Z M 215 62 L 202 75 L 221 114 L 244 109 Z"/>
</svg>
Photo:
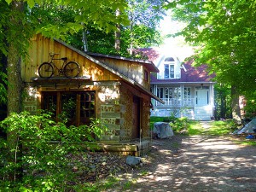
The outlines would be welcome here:
<svg viewBox="0 0 256 192">
<path fill-rule="evenodd" d="M 212 81 L 207 66 L 193 67 L 192 62 L 181 63 L 177 56 L 160 55 L 155 49 L 142 49 L 158 67 L 152 74 L 151 91 L 165 102 L 152 100 L 151 116 L 188 117 L 195 120 L 210 120 L 214 111 Z"/>
</svg>

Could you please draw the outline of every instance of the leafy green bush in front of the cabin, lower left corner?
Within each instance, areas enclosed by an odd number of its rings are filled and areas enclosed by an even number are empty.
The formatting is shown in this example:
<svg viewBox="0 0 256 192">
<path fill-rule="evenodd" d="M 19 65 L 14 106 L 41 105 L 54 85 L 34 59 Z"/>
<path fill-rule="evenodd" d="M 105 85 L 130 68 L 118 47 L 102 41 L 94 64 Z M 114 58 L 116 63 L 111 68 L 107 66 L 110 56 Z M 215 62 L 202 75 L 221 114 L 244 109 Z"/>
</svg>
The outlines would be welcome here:
<svg viewBox="0 0 256 192">
<path fill-rule="evenodd" d="M 55 123 L 48 113 L 32 115 L 12 113 L 1 123 L 9 134 L 15 134 L 14 148 L 0 140 L 1 191 L 72 190 L 76 175 L 72 155 L 94 141 L 104 131 L 98 119 L 90 126 L 67 127 Z M 15 156 L 13 161 L 12 156 Z M 15 178 L 15 181 L 11 178 Z"/>
</svg>

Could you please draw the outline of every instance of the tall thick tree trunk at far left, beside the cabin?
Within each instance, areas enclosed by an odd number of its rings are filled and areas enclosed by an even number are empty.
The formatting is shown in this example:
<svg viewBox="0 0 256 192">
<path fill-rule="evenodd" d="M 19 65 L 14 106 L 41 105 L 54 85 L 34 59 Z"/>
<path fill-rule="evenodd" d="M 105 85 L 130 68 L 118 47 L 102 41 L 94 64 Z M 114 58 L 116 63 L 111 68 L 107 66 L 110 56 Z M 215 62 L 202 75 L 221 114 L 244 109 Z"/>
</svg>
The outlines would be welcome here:
<svg viewBox="0 0 256 192">
<path fill-rule="evenodd" d="M 20 49 L 15 44 L 15 32 L 12 30 L 22 26 L 20 13 L 24 11 L 25 3 L 23 1 L 13 1 L 10 4 L 10 9 L 15 15 L 12 15 L 9 20 L 13 28 L 9 28 L 9 50 L 7 59 L 7 76 L 8 76 L 8 90 L 7 90 L 7 114 L 21 112 L 21 95 L 22 95 L 22 79 L 20 73 L 21 54 Z M 17 154 L 19 152 L 17 133 L 14 131 L 7 132 L 7 140 L 9 143 L 9 160 L 17 163 Z M 10 175 L 11 180 L 15 180 L 17 172 Z"/>
</svg>

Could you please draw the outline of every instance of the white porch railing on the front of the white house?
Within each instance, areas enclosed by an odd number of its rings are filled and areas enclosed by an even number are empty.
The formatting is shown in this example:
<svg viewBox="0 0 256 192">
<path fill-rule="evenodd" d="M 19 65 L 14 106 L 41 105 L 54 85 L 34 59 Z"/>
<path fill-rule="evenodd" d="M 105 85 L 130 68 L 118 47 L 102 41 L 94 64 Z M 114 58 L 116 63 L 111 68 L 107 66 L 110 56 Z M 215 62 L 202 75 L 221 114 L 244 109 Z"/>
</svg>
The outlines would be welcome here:
<svg viewBox="0 0 256 192">
<path fill-rule="evenodd" d="M 162 106 L 162 107 L 172 107 L 172 108 L 195 106 L 195 98 L 189 98 L 189 99 L 183 99 L 183 100 L 178 98 L 171 98 L 171 99 L 162 98 L 161 100 L 164 101 L 165 104 L 154 101 L 153 105 L 158 107 Z"/>
</svg>

